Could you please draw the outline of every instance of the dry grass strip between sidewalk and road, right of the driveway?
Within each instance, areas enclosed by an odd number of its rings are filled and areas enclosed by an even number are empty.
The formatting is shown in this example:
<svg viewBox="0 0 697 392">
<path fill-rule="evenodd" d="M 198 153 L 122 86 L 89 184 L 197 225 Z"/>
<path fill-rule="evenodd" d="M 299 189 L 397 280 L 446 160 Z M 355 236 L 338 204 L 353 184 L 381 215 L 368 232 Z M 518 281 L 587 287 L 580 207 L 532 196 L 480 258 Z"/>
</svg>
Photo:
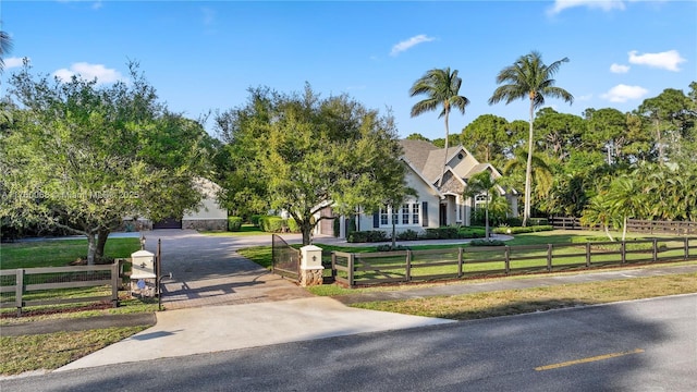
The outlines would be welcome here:
<svg viewBox="0 0 697 392">
<path fill-rule="evenodd" d="M 689 293 L 697 293 L 697 273 L 406 301 L 369 302 L 352 306 L 405 315 L 470 320 Z"/>
</svg>

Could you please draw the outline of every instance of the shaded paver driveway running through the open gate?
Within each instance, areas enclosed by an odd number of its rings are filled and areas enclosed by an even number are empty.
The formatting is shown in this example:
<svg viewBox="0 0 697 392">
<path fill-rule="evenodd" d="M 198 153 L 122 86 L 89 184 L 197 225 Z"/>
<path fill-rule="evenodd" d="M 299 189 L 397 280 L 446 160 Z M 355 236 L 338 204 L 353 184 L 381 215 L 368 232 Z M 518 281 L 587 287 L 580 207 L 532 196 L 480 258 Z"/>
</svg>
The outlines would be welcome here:
<svg viewBox="0 0 697 392">
<path fill-rule="evenodd" d="M 155 253 L 158 240 L 162 243 L 166 309 L 311 296 L 294 282 L 272 274 L 236 253 L 243 247 L 270 245 L 271 235 L 212 236 L 193 230 L 155 230 L 144 235 L 147 250 Z M 294 236 L 288 238 L 297 241 Z"/>
</svg>

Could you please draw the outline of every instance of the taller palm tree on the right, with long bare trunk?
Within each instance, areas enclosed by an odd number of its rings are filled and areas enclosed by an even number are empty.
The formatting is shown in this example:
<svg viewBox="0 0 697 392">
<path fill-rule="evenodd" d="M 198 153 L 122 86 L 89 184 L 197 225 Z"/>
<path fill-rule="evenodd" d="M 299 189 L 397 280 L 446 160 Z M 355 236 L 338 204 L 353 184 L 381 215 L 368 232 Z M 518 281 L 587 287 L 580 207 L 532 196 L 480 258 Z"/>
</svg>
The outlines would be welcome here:
<svg viewBox="0 0 697 392">
<path fill-rule="evenodd" d="M 545 97 L 561 98 L 566 102 L 574 102 L 574 96 L 565 89 L 554 86 L 557 81 L 552 78 L 557 71 L 559 71 L 562 63 L 565 62 L 568 62 L 567 58 L 563 58 L 546 65 L 542 62 L 542 56 L 537 51 L 522 56 L 515 61 L 515 63 L 499 72 L 499 75 L 497 76 L 497 84 L 505 84 L 499 86 L 493 91 L 491 98 L 489 98 L 489 105 L 498 103 L 502 100 L 509 105 L 516 99 L 525 99 L 526 97 L 530 100 L 530 123 L 527 148 L 527 167 L 525 170 L 525 208 L 523 210 L 523 225 L 527 225 L 527 221 L 530 218 L 530 185 L 533 177 L 534 147 L 533 122 L 535 109 L 545 105 Z"/>
</svg>

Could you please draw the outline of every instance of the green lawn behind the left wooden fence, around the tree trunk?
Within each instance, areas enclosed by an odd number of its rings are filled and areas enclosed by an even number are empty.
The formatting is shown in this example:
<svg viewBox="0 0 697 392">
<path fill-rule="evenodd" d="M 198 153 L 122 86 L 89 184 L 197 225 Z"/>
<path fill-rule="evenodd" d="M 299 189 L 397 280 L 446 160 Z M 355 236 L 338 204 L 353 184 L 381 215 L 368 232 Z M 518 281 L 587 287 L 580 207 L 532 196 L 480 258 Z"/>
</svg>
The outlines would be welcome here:
<svg viewBox="0 0 697 392">
<path fill-rule="evenodd" d="M 109 238 L 105 254 L 113 258 L 131 257 L 140 249 L 138 238 Z M 87 240 L 54 240 L 2 244 L 0 269 L 65 267 L 87 257 Z"/>
</svg>

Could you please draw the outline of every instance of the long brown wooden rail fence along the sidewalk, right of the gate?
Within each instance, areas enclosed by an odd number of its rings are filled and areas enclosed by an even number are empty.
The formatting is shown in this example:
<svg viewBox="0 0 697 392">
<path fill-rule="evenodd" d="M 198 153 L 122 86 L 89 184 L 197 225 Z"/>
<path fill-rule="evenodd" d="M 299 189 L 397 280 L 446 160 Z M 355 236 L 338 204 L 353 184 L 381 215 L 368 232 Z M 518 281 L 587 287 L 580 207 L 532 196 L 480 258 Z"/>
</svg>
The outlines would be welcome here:
<svg viewBox="0 0 697 392">
<path fill-rule="evenodd" d="M 603 266 L 683 261 L 697 238 L 585 244 L 460 247 L 382 253 L 332 253 L 332 275 L 345 286 L 539 273 Z"/>
</svg>

